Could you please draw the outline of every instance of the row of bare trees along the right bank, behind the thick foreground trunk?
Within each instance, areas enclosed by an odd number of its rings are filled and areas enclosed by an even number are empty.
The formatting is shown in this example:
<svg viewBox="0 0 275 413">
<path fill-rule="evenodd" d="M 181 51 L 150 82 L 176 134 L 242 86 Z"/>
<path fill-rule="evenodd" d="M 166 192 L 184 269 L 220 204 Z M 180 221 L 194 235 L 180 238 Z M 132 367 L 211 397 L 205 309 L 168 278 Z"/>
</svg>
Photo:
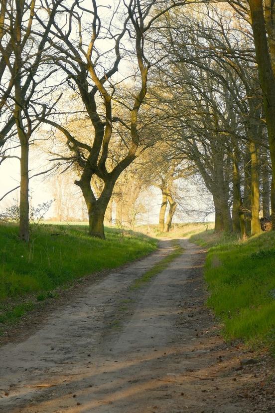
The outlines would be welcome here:
<svg viewBox="0 0 275 413">
<path fill-rule="evenodd" d="M 270 215 L 273 164 L 249 14 L 231 5 L 166 14 L 169 60 L 159 67 L 152 107 L 172 122 L 170 159 L 181 153 L 212 194 L 215 229 L 245 236 L 261 231 L 260 209 Z"/>
</svg>

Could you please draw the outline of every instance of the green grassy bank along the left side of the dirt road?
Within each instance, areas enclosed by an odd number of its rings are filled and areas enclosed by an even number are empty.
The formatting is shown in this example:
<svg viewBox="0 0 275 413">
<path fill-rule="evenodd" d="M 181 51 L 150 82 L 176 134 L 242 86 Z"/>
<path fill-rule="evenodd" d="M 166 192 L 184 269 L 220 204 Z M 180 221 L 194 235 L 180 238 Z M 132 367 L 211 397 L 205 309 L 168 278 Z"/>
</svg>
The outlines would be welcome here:
<svg viewBox="0 0 275 413">
<path fill-rule="evenodd" d="M 142 234 L 111 228 L 106 240 L 91 238 L 86 225 L 38 225 L 29 244 L 17 232 L 15 225 L 0 225 L 0 325 L 16 321 L 34 307 L 33 301 L 55 297 L 57 287 L 119 267 L 157 245 Z"/>
</svg>

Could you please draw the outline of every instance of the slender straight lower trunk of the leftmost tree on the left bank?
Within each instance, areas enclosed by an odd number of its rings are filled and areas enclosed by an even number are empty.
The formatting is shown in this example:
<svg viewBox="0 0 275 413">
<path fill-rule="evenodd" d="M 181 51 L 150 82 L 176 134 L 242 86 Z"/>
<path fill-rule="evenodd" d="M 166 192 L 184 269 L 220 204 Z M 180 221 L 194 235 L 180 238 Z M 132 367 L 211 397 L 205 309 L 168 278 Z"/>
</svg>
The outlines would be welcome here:
<svg viewBox="0 0 275 413">
<path fill-rule="evenodd" d="M 28 158 L 29 146 L 28 142 L 21 142 L 21 158 L 20 158 L 20 221 L 19 221 L 19 237 L 23 241 L 29 240 L 29 176 L 28 176 Z"/>
</svg>

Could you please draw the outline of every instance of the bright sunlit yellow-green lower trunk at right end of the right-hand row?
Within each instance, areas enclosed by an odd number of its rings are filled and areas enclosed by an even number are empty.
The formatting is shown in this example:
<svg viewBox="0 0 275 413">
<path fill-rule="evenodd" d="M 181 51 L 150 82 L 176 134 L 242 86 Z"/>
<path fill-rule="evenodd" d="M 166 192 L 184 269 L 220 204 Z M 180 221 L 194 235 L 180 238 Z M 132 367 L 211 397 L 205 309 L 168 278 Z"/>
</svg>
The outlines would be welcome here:
<svg viewBox="0 0 275 413">
<path fill-rule="evenodd" d="M 260 212 L 260 179 L 258 151 L 254 142 L 249 144 L 251 154 L 251 235 L 258 234 L 262 231 L 259 212 Z"/>
</svg>

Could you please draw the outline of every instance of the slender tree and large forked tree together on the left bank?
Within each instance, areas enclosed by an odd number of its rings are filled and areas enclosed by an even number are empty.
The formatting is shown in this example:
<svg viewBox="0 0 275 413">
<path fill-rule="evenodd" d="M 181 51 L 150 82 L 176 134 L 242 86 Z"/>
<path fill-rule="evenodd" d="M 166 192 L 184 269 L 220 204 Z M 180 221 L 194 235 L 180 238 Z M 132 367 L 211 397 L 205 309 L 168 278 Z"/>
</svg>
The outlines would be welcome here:
<svg viewBox="0 0 275 413">
<path fill-rule="evenodd" d="M 56 166 L 66 162 L 66 168 L 77 170 L 89 232 L 104 237 L 104 215 L 117 179 L 153 144 L 139 119 L 148 73 L 158 60 L 146 47 L 146 36 L 161 15 L 183 3 L 130 0 L 105 6 L 92 0 L 87 8 L 81 1 L 1 2 L 0 144 L 3 158 L 12 156 L 7 154 L 12 142 L 20 146 L 23 240 L 29 237 L 28 153 L 42 123 L 48 135 L 59 131 L 65 138 L 67 151 L 56 153 Z M 122 64 L 127 73 L 119 71 Z M 70 128 L 72 117 L 87 126 L 84 139 Z M 93 180 L 101 182 L 100 194 Z"/>
</svg>

